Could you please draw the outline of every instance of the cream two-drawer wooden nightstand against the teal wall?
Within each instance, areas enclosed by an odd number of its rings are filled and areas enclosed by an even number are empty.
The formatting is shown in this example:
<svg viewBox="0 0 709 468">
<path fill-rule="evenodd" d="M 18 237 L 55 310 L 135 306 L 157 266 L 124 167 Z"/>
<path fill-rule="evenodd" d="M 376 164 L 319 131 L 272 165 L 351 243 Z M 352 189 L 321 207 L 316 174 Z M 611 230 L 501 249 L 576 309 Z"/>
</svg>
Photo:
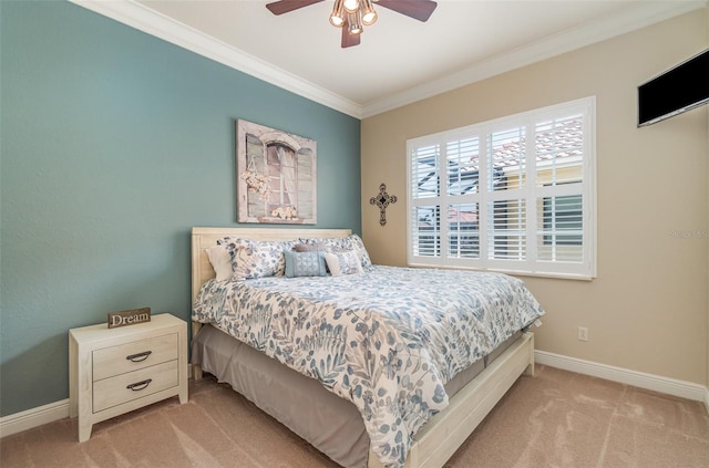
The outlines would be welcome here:
<svg viewBox="0 0 709 468">
<path fill-rule="evenodd" d="M 177 395 L 187 403 L 187 323 L 168 313 L 150 322 L 69 331 L 69 415 L 79 441 L 102 420 Z"/>
</svg>

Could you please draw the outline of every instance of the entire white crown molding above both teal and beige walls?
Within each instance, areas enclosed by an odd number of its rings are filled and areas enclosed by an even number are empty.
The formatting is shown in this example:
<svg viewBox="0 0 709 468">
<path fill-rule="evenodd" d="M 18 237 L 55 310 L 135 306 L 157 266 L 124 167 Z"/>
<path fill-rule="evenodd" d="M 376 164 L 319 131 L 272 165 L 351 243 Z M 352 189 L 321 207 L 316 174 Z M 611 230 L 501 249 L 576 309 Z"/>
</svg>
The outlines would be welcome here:
<svg viewBox="0 0 709 468">
<path fill-rule="evenodd" d="M 69 1 L 360 119 L 706 8 L 709 4 L 707 0 L 634 2 L 635 8 L 626 9 L 605 21 L 571 29 L 448 76 L 360 105 L 133 0 Z"/>
</svg>

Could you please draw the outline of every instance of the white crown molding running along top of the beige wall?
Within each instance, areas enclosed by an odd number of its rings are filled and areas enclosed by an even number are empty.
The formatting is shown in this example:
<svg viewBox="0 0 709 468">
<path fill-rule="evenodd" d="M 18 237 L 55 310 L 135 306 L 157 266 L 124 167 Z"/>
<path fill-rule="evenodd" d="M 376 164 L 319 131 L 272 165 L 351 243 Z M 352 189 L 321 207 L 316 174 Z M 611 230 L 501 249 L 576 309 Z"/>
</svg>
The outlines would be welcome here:
<svg viewBox="0 0 709 468">
<path fill-rule="evenodd" d="M 709 1 L 638 2 L 635 8 L 605 21 L 586 24 L 533 42 L 510 53 L 480 62 L 471 67 L 429 83 L 392 94 L 382 100 L 367 103 L 362 118 L 371 117 L 397 107 L 412 104 L 438 94 L 453 91 L 469 84 L 551 59 L 607 39 L 635 31 L 657 22 L 688 13 L 709 6 Z"/>
</svg>

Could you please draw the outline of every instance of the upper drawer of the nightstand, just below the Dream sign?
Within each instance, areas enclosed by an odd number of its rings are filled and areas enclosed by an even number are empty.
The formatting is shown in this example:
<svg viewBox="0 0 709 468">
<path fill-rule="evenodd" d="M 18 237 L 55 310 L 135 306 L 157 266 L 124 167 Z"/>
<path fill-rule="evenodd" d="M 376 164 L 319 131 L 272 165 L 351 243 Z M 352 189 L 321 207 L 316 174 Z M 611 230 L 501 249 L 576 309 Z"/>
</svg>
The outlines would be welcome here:
<svg viewBox="0 0 709 468">
<path fill-rule="evenodd" d="M 93 352 L 93 381 L 101 381 L 176 358 L 177 333 L 95 350 Z"/>
</svg>

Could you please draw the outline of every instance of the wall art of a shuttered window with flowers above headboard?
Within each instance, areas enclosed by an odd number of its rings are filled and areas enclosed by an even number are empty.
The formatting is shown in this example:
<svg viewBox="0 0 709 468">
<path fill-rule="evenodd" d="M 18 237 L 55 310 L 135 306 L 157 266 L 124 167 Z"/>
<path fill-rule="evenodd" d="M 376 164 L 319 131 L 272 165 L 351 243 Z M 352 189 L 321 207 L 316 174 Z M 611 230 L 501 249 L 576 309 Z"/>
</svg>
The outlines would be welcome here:
<svg viewBox="0 0 709 468">
<path fill-rule="evenodd" d="M 317 142 L 236 121 L 238 222 L 317 223 Z"/>
</svg>

